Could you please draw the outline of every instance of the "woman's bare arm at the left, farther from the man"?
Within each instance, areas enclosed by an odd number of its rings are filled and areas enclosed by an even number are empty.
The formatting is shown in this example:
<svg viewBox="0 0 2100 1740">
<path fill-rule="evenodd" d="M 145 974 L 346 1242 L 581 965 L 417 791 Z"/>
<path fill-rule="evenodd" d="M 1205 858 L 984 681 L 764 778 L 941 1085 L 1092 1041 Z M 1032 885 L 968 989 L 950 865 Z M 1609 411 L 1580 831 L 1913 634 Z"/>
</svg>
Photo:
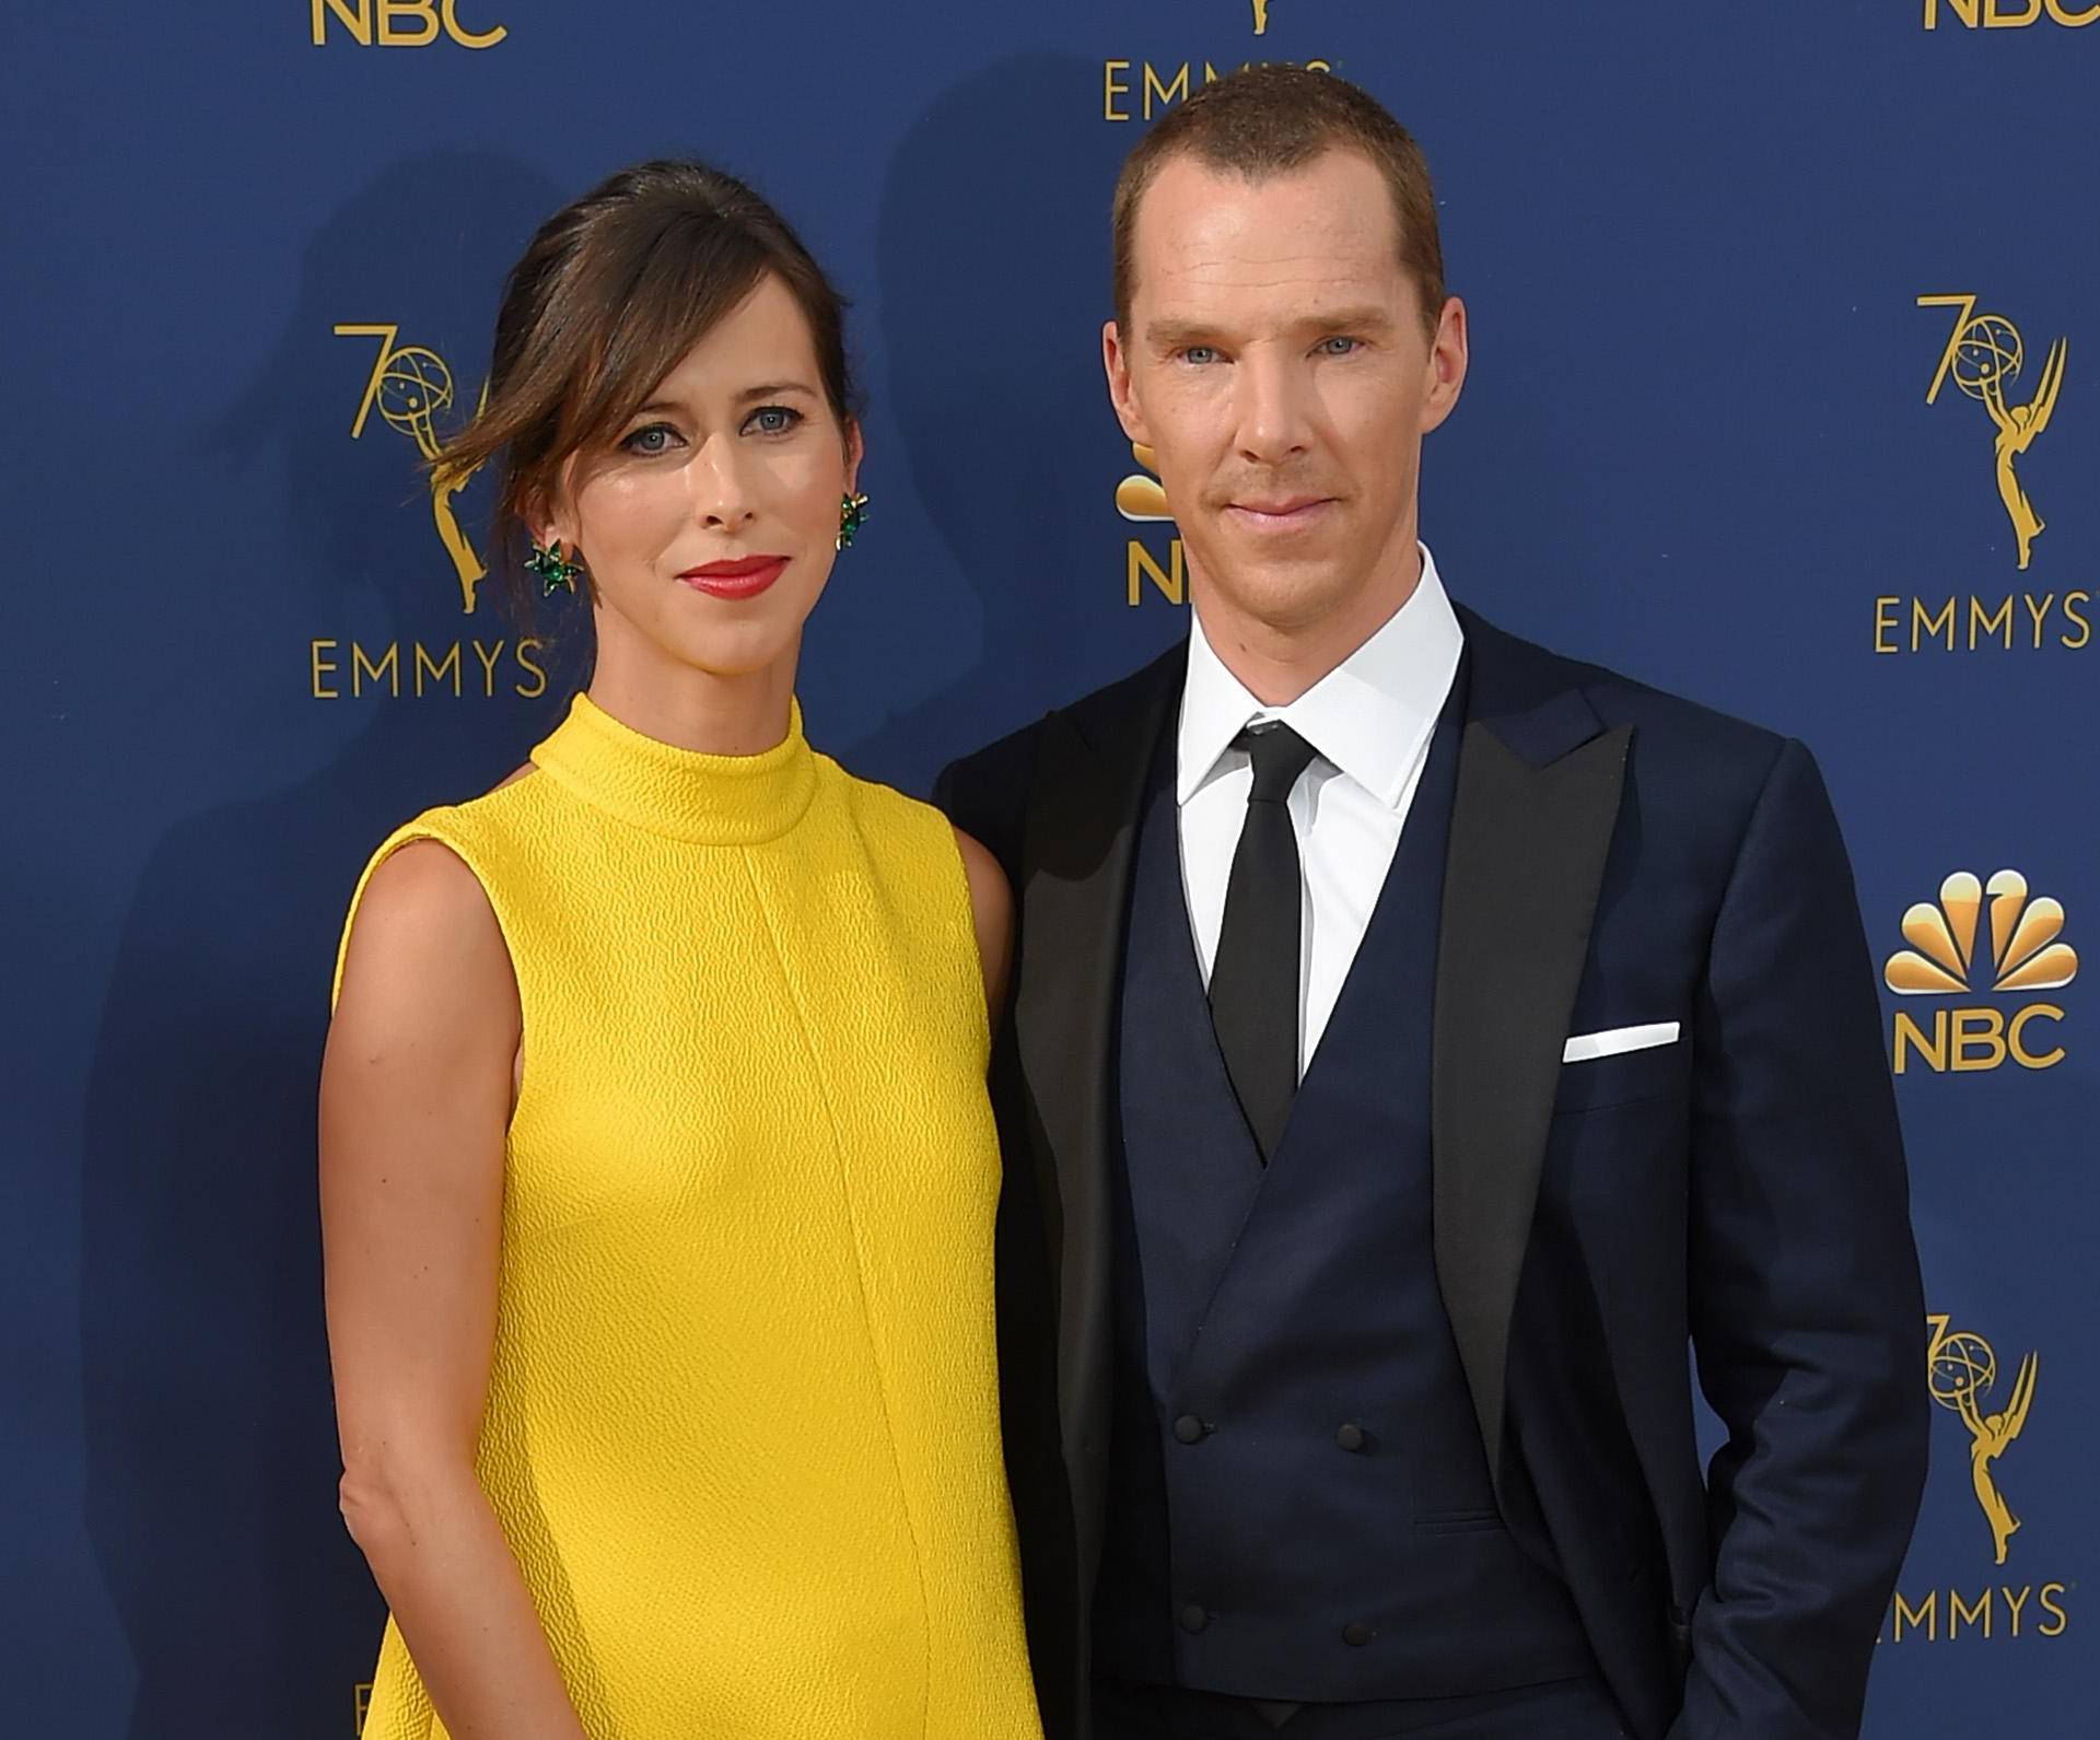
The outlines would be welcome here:
<svg viewBox="0 0 2100 1740">
<path fill-rule="evenodd" d="M 584 1740 L 475 1478 L 496 1333 L 519 995 L 472 871 L 374 871 L 321 1064 L 342 1520 L 458 1740 Z"/>
</svg>

